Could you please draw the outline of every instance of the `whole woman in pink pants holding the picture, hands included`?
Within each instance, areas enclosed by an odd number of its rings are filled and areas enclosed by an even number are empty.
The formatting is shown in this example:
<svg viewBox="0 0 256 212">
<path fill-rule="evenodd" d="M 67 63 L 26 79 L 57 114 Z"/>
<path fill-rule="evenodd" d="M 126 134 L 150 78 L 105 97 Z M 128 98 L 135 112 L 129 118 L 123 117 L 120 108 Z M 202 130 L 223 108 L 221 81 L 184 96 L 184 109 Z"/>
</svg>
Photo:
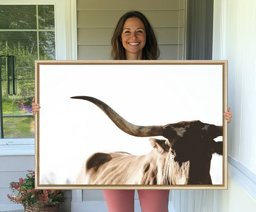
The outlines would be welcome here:
<svg viewBox="0 0 256 212">
<path fill-rule="evenodd" d="M 153 28 L 138 12 L 125 13 L 118 21 L 111 39 L 111 58 L 114 60 L 156 60 L 160 52 Z M 33 99 L 34 101 L 34 99 Z M 40 106 L 32 104 L 33 114 Z M 232 113 L 224 114 L 230 122 Z M 133 212 L 134 190 L 102 190 L 109 212 Z M 138 190 L 143 212 L 167 212 L 169 190 Z"/>
</svg>

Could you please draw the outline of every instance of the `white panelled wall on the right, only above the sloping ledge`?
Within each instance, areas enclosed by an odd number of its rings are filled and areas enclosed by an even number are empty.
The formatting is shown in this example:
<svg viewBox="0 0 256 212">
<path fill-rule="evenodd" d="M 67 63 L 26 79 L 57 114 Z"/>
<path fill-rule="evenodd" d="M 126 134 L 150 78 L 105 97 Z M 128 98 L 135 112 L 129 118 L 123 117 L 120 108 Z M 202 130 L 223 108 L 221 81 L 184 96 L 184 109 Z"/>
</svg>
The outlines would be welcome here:
<svg viewBox="0 0 256 212">
<path fill-rule="evenodd" d="M 256 174 L 256 1 L 224 1 L 222 59 L 229 65 L 229 156 Z"/>
</svg>

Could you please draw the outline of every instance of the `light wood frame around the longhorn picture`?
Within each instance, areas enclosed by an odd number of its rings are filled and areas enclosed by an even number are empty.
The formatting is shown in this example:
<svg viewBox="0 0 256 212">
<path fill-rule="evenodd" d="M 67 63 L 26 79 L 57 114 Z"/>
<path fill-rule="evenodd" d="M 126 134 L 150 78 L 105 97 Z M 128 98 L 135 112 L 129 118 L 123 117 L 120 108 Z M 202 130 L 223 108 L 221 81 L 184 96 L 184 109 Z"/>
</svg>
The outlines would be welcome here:
<svg viewBox="0 0 256 212">
<path fill-rule="evenodd" d="M 227 61 L 35 61 L 35 97 L 36 102 L 42 105 L 40 102 L 40 68 L 42 65 L 222 65 L 222 112 L 227 110 L 228 101 L 227 101 Z M 157 71 L 157 70 L 156 70 Z M 44 79 L 45 80 L 45 79 Z M 61 79 L 59 81 L 61 83 Z M 59 83 L 58 82 L 58 83 Z M 44 82 L 45 83 L 45 82 Z M 42 89 L 42 87 L 41 87 Z M 74 95 L 76 96 L 76 95 Z M 79 95 L 77 95 L 79 96 Z M 90 96 L 85 94 L 85 96 Z M 56 103 L 47 102 L 51 104 L 54 110 Z M 60 104 L 60 103 L 59 103 Z M 61 105 L 61 104 L 60 104 Z M 109 104 L 112 107 L 111 104 Z M 95 105 L 94 105 L 95 106 Z M 57 103 L 58 108 L 58 103 Z M 95 106 L 95 108 L 97 108 Z M 42 110 L 42 109 L 41 109 Z M 58 110 L 58 109 L 56 109 Z M 100 113 L 100 111 L 99 111 Z M 209 112 L 210 113 L 210 112 Z M 122 115 L 122 114 L 120 114 Z M 222 114 L 220 114 L 222 116 Z M 218 185 L 73 185 L 73 184 L 40 184 L 40 131 L 39 131 L 39 118 L 40 112 L 35 116 L 35 171 L 36 171 L 36 180 L 35 188 L 37 189 L 227 189 L 227 121 L 222 118 L 223 122 L 223 160 L 222 160 L 222 171 L 223 171 L 223 183 Z M 183 120 L 180 120 L 183 121 Z M 174 122 L 173 122 L 174 123 Z M 167 124 L 167 123 L 166 123 Z M 211 124 L 211 123 L 209 123 Z M 40 141 L 44 142 L 44 141 Z M 44 153 L 45 154 L 45 153 Z M 59 157 L 61 157 L 59 155 Z M 54 157 L 51 159 L 54 163 Z M 64 160 L 64 155 L 63 155 Z M 42 162 L 42 161 L 41 161 Z"/>
</svg>

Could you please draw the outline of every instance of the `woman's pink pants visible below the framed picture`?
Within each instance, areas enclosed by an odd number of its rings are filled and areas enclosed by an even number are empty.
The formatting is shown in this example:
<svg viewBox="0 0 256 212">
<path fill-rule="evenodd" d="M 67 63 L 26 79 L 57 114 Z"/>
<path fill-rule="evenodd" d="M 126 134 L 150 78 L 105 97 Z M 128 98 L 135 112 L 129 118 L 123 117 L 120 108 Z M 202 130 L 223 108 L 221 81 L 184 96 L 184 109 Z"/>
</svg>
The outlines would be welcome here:
<svg viewBox="0 0 256 212">
<path fill-rule="evenodd" d="M 108 212 L 134 212 L 134 190 L 102 190 Z M 168 212 L 170 190 L 138 190 L 142 212 Z"/>
</svg>

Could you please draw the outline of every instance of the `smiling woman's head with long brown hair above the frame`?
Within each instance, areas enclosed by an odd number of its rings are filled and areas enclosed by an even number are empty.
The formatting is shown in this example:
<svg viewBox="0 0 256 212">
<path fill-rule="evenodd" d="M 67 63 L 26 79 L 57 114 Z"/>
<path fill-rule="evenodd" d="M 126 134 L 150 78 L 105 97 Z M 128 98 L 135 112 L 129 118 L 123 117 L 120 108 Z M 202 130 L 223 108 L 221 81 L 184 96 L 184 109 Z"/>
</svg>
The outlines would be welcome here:
<svg viewBox="0 0 256 212">
<path fill-rule="evenodd" d="M 125 13 L 117 22 L 111 39 L 114 60 L 156 60 L 160 55 L 154 30 L 138 11 Z"/>
</svg>

